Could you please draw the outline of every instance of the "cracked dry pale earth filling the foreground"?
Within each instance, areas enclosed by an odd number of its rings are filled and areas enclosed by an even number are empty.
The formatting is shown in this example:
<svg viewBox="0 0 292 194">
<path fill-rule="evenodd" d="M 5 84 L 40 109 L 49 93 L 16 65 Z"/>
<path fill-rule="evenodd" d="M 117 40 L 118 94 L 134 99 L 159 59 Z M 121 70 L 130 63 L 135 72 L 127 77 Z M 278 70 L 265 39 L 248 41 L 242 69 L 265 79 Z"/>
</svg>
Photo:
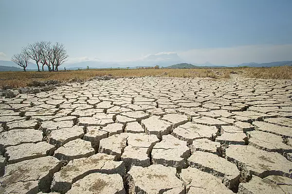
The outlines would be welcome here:
<svg viewBox="0 0 292 194">
<path fill-rule="evenodd" d="M 292 81 L 92 80 L 0 99 L 1 194 L 291 194 Z"/>
</svg>

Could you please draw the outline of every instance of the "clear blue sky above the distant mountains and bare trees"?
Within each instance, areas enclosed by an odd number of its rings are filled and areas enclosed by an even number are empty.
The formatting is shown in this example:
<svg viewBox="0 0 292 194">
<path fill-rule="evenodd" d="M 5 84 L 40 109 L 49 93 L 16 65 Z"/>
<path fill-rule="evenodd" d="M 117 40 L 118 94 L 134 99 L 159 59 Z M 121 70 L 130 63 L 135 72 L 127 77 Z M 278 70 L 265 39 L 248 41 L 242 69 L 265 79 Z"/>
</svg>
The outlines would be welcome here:
<svg viewBox="0 0 292 194">
<path fill-rule="evenodd" d="M 70 61 L 175 52 L 193 63 L 292 60 L 292 0 L 0 0 L 0 60 L 38 40 Z"/>
</svg>

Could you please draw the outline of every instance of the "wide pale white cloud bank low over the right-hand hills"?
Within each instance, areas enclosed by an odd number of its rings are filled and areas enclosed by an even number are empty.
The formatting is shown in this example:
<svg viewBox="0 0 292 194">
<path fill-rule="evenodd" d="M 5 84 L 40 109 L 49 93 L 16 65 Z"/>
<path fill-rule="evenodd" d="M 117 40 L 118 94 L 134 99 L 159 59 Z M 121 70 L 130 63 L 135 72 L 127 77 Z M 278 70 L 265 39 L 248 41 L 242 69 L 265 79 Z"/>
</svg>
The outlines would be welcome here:
<svg viewBox="0 0 292 194">
<path fill-rule="evenodd" d="M 247 45 L 229 48 L 193 49 L 178 52 L 186 61 L 202 64 L 240 64 L 244 62 L 273 62 L 292 60 L 292 44 L 286 45 Z"/>
</svg>

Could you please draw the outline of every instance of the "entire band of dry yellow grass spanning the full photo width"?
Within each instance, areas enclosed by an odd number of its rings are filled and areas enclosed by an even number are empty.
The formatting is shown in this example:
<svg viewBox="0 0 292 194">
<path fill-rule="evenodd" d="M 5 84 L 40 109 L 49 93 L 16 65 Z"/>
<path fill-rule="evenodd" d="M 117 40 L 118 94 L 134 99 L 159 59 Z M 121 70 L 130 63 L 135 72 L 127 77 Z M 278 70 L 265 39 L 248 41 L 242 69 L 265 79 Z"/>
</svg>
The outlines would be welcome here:
<svg viewBox="0 0 292 194">
<path fill-rule="evenodd" d="M 113 77 L 210 77 L 230 78 L 230 72 L 243 72 L 245 77 L 262 79 L 292 79 L 292 67 L 272 68 L 212 68 L 212 69 L 103 69 L 103 70 L 81 70 L 81 71 L 7 71 L 0 72 L 0 88 L 11 86 L 13 88 L 26 87 L 33 81 L 70 81 L 71 79 L 87 80 L 95 76 L 111 75 Z"/>
</svg>

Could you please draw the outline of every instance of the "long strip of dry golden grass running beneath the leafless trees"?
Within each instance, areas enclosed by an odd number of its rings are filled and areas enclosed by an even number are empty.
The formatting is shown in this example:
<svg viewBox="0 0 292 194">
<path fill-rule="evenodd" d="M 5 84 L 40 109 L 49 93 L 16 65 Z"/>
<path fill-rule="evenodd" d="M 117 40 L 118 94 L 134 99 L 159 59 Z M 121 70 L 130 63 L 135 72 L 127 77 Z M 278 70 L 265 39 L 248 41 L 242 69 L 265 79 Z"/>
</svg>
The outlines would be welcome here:
<svg viewBox="0 0 292 194">
<path fill-rule="evenodd" d="M 26 87 L 32 81 L 59 80 L 69 81 L 71 79 L 90 79 L 95 76 L 111 75 L 113 77 L 210 77 L 229 78 L 228 69 L 146 69 L 146 70 L 82 70 L 82 71 L 58 71 L 58 72 L 0 72 L 0 87 L 11 86 L 13 88 Z"/>
</svg>

